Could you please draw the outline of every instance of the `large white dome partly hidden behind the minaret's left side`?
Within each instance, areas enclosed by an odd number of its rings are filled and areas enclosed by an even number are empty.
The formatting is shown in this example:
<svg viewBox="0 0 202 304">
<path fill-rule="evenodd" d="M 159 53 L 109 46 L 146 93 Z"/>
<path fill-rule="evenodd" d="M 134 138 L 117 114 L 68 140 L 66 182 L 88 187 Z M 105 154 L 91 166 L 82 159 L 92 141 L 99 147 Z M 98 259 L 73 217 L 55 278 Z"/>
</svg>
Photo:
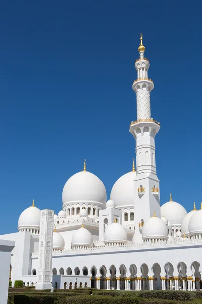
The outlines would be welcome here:
<svg viewBox="0 0 202 304">
<path fill-rule="evenodd" d="M 134 179 L 136 172 L 131 171 L 121 176 L 112 187 L 110 198 L 115 202 L 116 208 L 134 207 Z"/>
</svg>

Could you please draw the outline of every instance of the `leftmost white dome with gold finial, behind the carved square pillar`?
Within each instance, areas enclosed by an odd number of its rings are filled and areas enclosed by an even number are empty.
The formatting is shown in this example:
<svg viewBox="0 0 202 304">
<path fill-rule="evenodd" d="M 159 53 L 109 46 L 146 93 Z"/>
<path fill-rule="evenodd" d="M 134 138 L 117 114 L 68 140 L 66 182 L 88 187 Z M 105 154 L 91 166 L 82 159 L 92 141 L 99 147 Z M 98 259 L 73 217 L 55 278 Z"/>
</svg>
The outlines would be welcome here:
<svg viewBox="0 0 202 304">
<path fill-rule="evenodd" d="M 18 230 L 20 229 L 40 229 L 41 211 L 34 206 L 25 209 L 18 219 Z"/>
</svg>

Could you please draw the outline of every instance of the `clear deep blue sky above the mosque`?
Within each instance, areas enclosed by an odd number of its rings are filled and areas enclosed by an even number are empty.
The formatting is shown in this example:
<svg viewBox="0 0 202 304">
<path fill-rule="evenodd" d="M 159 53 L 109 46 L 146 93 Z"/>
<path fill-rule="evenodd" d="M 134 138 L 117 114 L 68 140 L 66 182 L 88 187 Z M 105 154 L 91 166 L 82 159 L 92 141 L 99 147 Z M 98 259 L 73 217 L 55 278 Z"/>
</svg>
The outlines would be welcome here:
<svg viewBox="0 0 202 304">
<path fill-rule="evenodd" d="M 67 179 L 131 170 L 139 33 L 149 77 L 161 204 L 200 207 L 200 1 L 9 1 L 0 10 L 0 234 L 32 203 L 61 210 Z"/>
</svg>

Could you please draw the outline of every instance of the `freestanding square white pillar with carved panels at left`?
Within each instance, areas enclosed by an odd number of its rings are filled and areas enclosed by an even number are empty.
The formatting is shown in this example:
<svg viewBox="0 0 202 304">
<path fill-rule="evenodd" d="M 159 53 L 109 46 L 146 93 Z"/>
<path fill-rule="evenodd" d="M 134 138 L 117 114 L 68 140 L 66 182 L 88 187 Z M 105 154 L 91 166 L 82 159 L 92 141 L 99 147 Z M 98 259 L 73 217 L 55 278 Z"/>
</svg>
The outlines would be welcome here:
<svg viewBox="0 0 202 304">
<path fill-rule="evenodd" d="M 34 207 L 33 207 L 34 208 Z M 41 210 L 36 289 L 51 289 L 54 211 Z M 58 286 L 59 287 L 59 286 Z"/>
</svg>

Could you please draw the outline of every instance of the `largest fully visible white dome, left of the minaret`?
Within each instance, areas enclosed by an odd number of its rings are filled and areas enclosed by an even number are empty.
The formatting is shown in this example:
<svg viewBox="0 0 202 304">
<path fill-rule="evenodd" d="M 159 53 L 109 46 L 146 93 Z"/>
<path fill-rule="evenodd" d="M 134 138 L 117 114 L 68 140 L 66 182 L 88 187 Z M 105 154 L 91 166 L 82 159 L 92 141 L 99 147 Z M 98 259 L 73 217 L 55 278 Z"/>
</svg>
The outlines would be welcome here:
<svg viewBox="0 0 202 304">
<path fill-rule="evenodd" d="M 106 203 L 106 189 L 103 182 L 88 171 L 74 174 L 66 182 L 62 201 L 65 203 L 91 202 L 98 204 Z"/>
</svg>

